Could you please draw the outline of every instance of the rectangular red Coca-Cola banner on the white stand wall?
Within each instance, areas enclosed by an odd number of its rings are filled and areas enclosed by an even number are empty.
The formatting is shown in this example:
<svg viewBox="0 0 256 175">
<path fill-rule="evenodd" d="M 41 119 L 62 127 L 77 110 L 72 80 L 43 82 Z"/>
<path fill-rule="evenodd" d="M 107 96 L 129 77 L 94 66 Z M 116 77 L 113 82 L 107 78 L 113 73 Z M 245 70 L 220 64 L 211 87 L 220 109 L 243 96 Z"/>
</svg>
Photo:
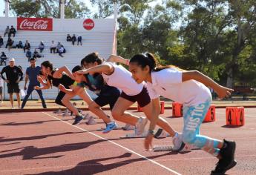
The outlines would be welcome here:
<svg viewBox="0 0 256 175">
<path fill-rule="evenodd" d="M 17 18 L 17 30 L 53 31 L 53 19 Z"/>
</svg>

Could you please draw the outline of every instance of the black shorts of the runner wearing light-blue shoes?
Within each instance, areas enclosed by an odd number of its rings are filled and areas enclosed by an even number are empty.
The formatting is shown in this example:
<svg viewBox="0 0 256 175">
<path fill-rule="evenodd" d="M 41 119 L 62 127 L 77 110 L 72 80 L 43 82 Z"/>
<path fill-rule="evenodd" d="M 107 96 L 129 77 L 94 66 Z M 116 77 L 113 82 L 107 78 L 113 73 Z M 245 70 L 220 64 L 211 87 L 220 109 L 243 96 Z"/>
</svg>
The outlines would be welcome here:
<svg viewBox="0 0 256 175">
<path fill-rule="evenodd" d="M 116 87 L 107 86 L 101 90 L 94 102 L 100 107 L 109 105 L 112 110 L 119 96 L 120 91 Z"/>
</svg>

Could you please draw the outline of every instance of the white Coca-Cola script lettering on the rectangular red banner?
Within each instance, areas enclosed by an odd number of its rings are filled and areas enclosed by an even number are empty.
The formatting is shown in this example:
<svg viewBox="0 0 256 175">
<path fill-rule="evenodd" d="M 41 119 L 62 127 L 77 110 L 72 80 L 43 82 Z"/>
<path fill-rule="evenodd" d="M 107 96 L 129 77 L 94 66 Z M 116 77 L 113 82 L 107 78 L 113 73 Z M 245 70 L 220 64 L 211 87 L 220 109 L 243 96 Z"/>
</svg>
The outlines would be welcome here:
<svg viewBox="0 0 256 175">
<path fill-rule="evenodd" d="M 48 22 L 44 20 L 38 20 L 36 22 L 29 22 L 27 19 L 24 19 L 23 22 L 19 25 L 21 29 L 35 29 L 35 30 L 45 30 L 48 27 Z"/>
</svg>

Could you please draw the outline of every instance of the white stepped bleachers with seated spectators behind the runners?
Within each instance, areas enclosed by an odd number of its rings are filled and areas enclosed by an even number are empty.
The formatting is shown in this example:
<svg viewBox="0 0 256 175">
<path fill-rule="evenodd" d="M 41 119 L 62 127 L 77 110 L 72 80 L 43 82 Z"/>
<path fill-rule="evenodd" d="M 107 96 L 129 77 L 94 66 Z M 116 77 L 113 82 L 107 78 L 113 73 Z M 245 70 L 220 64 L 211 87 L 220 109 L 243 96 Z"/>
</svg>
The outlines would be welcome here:
<svg viewBox="0 0 256 175">
<path fill-rule="evenodd" d="M 7 25 L 13 25 L 14 27 L 16 27 L 16 21 L 14 20 L 16 18 L 9 18 L 12 19 L 10 21 L 13 21 L 13 24 L 10 24 L 8 20 L 6 21 L 4 19 L 5 18 L 0 18 L 0 35 L 4 38 L 4 45 L 2 46 L 2 48 L 0 48 L 0 53 L 4 51 L 8 58 L 15 58 L 16 65 L 21 65 L 23 71 L 25 72 L 26 68 L 30 64 L 29 62 L 27 62 L 27 58 L 23 49 L 13 48 L 9 51 L 7 48 L 5 48 L 5 44 L 7 43 L 7 36 L 4 37 L 5 27 Z M 56 25 L 54 25 L 55 20 L 59 27 L 56 27 Z M 77 24 L 73 21 L 77 22 Z M 47 32 L 17 30 L 16 36 L 14 38 L 13 36 L 11 37 L 14 40 L 13 45 L 18 44 L 19 41 L 22 41 L 22 44 L 24 45 L 25 41 L 28 40 L 31 46 L 30 50 L 33 53 L 33 50 L 39 46 L 39 42 L 43 41 L 45 44 L 45 50 L 43 50 L 42 55 L 44 57 L 37 59 L 36 65 L 40 65 L 45 60 L 49 60 L 53 63 L 54 67 L 61 67 L 67 65 L 70 69 L 72 69 L 76 65 L 79 65 L 81 59 L 88 53 L 97 51 L 104 59 L 112 53 L 114 40 L 114 19 L 96 20 L 93 30 L 85 30 L 83 27 L 75 26 L 75 24 L 79 26 L 80 23 L 84 21 L 83 19 L 73 19 L 73 21 L 71 22 L 70 19 L 63 19 L 62 22 L 61 19 L 53 19 L 53 31 Z M 72 25 L 68 25 L 68 29 L 63 29 L 61 24 L 68 24 L 68 22 L 70 22 L 70 24 L 73 24 L 74 26 L 72 27 Z M 76 34 L 76 37 L 81 35 L 82 46 L 76 44 L 73 46 L 72 42 L 66 42 L 67 34 L 70 34 L 70 36 Z M 63 58 L 60 57 L 58 53 L 50 53 L 50 44 L 52 40 L 56 44 L 57 42 L 61 42 L 61 44 L 64 45 L 66 53 L 63 54 Z M 0 70 L 2 69 L 2 67 L 4 67 L 4 65 L 0 66 Z M 20 88 L 24 87 L 24 81 L 21 82 L 19 86 Z M 46 99 L 53 99 L 56 97 L 57 91 L 58 90 L 56 89 L 56 87 L 53 87 L 53 89 L 50 90 L 45 90 L 44 96 Z M 4 88 L 4 98 L 8 99 L 6 85 Z M 36 91 L 33 92 L 32 98 L 38 99 Z"/>
</svg>

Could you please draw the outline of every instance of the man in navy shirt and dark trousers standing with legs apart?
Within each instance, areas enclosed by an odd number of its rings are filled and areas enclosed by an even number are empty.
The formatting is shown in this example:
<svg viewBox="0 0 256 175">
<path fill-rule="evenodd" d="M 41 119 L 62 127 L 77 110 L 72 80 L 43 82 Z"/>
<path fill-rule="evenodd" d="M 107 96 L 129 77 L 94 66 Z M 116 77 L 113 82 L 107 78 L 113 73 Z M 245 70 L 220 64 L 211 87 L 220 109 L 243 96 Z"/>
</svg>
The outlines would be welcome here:
<svg viewBox="0 0 256 175">
<path fill-rule="evenodd" d="M 27 99 L 30 96 L 30 94 L 33 92 L 35 86 L 40 86 L 40 83 L 37 81 L 37 76 L 39 76 L 39 73 L 41 72 L 41 67 L 36 66 L 36 59 L 30 59 L 30 67 L 27 67 L 26 70 L 26 76 L 25 76 L 25 85 L 24 90 L 27 90 L 27 95 L 24 97 L 22 102 L 22 109 L 26 105 Z M 27 80 L 30 81 L 27 87 Z M 42 101 L 43 108 L 46 108 L 45 99 L 42 95 L 42 90 L 36 90 L 36 92 L 39 94 L 39 97 Z"/>
</svg>

